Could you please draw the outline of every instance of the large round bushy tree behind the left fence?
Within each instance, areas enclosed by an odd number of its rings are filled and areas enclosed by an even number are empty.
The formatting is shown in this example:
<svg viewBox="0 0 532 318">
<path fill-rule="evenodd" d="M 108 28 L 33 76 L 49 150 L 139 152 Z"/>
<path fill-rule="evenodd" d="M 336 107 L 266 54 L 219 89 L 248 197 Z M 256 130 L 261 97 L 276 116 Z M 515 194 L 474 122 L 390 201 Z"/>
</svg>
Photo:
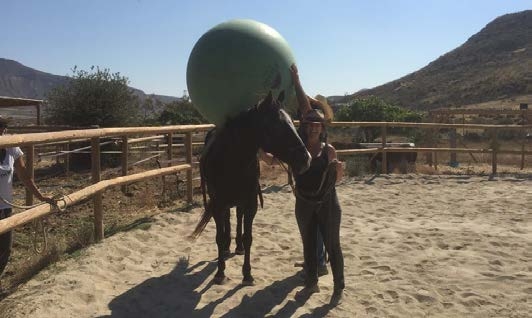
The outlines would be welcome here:
<svg viewBox="0 0 532 318">
<path fill-rule="evenodd" d="M 47 95 L 46 122 L 56 125 L 119 127 L 139 123 L 138 97 L 128 79 L 109 69 L 72 70 L 67 84 Z"/>
</svg>

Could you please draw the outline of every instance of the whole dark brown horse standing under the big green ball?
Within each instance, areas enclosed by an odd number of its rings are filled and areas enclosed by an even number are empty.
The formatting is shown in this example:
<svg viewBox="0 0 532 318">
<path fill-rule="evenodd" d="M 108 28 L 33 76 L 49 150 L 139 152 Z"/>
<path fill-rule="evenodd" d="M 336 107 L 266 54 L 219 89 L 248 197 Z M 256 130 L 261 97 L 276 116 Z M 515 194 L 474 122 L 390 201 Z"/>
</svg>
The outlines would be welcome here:
<svg viewBox="0 0 532 318">
<path fill-rule="evenodd" d="M 200 157 L 200 179 L 205 209 L 191 237 L 198 237 L 210 219 L 214 218 L 218 246 L 215 284 L 223 284 L 226 279 L 225 258 L 229 255 L 231 242 L 229 213 L 232 207 L 237 209 L 239 222 L 243 218 L 244 232 L 240 239 L 244 252 L 242 284 L 254 284 L 250 250 L 253 219 L 258 207 L 257 197 L 260 197 L 262 205 L 257 159 L 259 148 L 288 163 L 294 173 L 303 173 L 310 166 L 311 156 L 297 134 L 292 120 L 281 108 L 283 97 L 284 94 L 281 93 L 275 99 L 270 91 L 257 105 L 240 112 L 234 118 L 228 119 L 222 127 L 207 134 Z M 241 225 L 239 227 L 241 228 Z M 237 246 L 237 253 L 241 252 L 241 248 Z"/>
</svg>

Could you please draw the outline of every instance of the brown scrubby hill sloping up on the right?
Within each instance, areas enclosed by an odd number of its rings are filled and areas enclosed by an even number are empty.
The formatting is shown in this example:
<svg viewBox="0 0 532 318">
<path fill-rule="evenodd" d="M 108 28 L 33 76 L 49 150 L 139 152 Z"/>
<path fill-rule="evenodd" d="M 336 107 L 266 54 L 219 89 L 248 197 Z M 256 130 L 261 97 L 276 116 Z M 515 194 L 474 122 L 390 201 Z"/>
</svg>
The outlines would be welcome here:
<svg viewBox="0 0 532 318">
<path fill-rule="evenodd" d="M 340 98 L 369 95 L 430 110 L 532 94 L 532 10 L 503 15 L 426 67 L 384 85 Z"/>
</svg>

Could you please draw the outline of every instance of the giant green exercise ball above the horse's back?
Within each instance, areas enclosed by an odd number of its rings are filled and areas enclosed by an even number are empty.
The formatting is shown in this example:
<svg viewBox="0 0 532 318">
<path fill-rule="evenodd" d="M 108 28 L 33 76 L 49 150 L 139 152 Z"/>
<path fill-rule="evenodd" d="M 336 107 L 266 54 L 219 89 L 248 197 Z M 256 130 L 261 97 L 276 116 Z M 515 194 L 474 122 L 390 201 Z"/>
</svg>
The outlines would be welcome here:
<svg viewBox="0 0 532 318">
<path fill-rule="evenodd" d="M 293 95 L 286 40 L 254 20 L 230 20 L 213 27 L 194 45 L 187 65 L 192 103 L 209 122 L 222 125 L 255 105 L 271 90 Z"/>
</svg>

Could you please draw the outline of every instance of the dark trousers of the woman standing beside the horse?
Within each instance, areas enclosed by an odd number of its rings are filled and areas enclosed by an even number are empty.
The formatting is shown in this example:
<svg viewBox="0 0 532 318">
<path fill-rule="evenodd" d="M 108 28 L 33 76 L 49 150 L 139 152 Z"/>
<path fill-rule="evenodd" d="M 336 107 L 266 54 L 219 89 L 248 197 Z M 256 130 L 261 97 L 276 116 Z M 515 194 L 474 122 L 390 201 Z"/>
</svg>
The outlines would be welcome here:
<svg viewBox="0 0 532 318">
<path fill-rule="evenodd" d="M 334 289 L 344 289 L 344 256 L 340 246 L 340 223 L 342 210 L 338 203 L 336 189 L 322 202 L 313 202 L 296 197 L 296 220 L 303 240 L 303 257 L 305 261 L 305 286 L 318 282 L 317 233 L 320 231 L 329 254 Z"/>
</svg>

